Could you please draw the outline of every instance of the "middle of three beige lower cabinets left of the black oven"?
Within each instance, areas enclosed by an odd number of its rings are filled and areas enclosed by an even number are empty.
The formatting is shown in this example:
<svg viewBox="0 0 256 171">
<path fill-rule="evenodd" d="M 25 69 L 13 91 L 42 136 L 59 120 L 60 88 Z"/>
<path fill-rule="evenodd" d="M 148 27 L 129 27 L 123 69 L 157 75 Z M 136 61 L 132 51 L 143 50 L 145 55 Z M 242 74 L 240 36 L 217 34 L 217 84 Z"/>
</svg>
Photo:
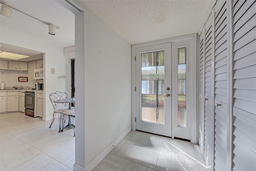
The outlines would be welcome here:
<svg viewBox="0 0 256 171">
<path fill-rule="evenodd" d="M 7 92 L 7 111 L 19 111 L 19 92 Z"/>
</svg>

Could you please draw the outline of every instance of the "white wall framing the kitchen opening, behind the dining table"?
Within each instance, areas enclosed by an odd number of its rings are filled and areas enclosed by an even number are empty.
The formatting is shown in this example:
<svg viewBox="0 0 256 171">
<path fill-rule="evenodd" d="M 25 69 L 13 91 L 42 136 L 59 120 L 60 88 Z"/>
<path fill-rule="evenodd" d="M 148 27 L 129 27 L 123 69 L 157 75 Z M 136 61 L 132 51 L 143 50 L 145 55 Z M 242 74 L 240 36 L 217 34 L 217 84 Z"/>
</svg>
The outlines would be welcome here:
<svg viewBox="0 0 256 171">
<path fill-rule="evenodd" d="M 44 117 L 43 120 L 52 119 L 53 108 L 49 95 L 55 91 L 65 91 L 64 80 L 57 79 L 63 76 L 64 50 L 63 47 L 38 40 L 20 32 L 14 32 L 10 28 L 0 26 L 0 41 L 23 48 L 45 52 L 44 56 Z M 46 34 L 48 34 L 46 32 Z M 51 74 L 51 68 L 55 68 L 55 74 Z"/>
</svg>

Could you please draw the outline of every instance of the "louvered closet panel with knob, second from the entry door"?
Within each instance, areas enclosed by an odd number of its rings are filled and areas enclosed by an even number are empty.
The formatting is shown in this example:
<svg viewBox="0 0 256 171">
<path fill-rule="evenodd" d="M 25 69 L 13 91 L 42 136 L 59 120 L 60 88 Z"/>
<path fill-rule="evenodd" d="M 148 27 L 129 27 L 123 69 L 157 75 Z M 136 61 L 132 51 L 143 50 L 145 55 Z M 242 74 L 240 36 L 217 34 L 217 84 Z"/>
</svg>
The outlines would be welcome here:
<svg viewBox="0 0 256 171">
<path fill-rule="evenodd" d="M 211 15 L 212 16 L 212 15 Z M 212 166 L 212 17 L 205 25 L 204 59 L 204 159 L 208 167 Z"/>
</svg>

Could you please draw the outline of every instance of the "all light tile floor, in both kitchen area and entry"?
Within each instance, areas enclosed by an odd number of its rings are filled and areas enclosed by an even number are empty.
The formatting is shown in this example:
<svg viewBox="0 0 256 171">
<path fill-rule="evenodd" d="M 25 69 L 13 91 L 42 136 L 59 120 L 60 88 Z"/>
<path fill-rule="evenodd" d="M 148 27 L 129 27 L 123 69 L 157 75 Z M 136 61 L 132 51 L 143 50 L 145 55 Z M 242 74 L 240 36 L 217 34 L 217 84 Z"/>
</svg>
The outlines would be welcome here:
<svg viewBox="0 0 256 171">
<path fill-rule="evenodd" d="M 24 113 L 0 114 L 1 171 L 72 171 L 75 137 L 58 132 L 58 119 L 32 118 Z M 131 131 L 93 171 L 207 171 L 196 144 Z"/>
</svg>

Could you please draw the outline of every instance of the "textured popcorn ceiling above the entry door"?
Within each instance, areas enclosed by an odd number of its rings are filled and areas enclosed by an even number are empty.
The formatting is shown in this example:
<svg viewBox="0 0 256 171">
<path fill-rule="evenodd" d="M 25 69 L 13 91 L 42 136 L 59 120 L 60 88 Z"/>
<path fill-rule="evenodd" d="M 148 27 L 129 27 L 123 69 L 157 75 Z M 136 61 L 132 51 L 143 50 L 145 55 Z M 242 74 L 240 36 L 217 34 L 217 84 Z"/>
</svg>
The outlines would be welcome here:
<svg viewBox="0 0 256 171">
<path fill-rule="evenodd" d="M 200 31 L 212 0 L 80 0 L 130 44 Z"/>
</svg>

